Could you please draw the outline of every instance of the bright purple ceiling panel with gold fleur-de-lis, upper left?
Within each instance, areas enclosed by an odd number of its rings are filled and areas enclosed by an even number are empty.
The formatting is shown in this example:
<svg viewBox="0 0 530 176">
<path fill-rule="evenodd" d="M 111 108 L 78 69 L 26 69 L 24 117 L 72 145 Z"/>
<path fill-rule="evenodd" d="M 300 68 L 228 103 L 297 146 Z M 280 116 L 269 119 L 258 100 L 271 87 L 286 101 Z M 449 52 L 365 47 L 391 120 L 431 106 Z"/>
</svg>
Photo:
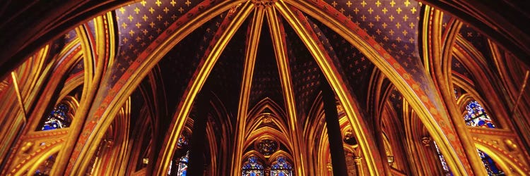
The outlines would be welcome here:
<svg viewBox="0 0 530 176">
<path fill-rule="evenodd" d="M 139 1 L 117 8 L 119 49 L 110 87 L 124 73 L 138 55 L 179 17 L 200 1 L 156 0 Z"/>
</svg>

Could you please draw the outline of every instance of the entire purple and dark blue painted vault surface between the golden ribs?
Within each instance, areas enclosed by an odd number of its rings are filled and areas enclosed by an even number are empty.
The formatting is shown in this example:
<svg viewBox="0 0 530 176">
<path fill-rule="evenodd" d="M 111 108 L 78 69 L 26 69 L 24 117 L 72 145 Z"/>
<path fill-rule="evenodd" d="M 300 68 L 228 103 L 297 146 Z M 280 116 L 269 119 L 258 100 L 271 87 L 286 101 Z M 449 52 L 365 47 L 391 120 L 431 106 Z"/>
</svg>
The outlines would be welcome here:
<svg viewBox="0 0 530 176">
<path fill-rule="evenodd" d="M 264 4 L 269 3 L 263 1 Z M 379 45 L 384 47 L 389 54 L 413 75 L 415 80 L 425 79 L 423 65 L 418 54 L 418 26 L 420 21 L 420 4 L 416 1 L 326 1 L 330 7 L 343 13 L 348 20 L 359 25 L 362 30 L 374 38 Z M 204 1 L 139 1 L 118 8 L 114 13 L 117 16 L 119 31 L 119 51 L 114 67 L 113 80 L 118 80 L 125 73 L 141 51 L 156 41 L 175 20 L 184 14 L 194 14 L 201 11 L 201 6 L 208 6 Z M 265 5 L 269 6 L 269 5 Z M 195 8 L 194 8 L 195 7 Z M 198 7 L 198 8 L 197 8 Z M 295 8 L 293 8 L 295 9 Z M 236 11 L 236 8 L 232 8 Z M 295 11 L 298 11 L 295 9 Z M 213 47 L 219 33 L 223 32 L 223 24 L 233 20 L 227 18 L 229 12 L 209 20 L 197 30 L 185 37 L 158 63 L 162 73 L 163 85 L 167 94 L 167 106 L 174 108 L 193 75 L 196 65 L 201 58 L 207 56 Z M 370 87 L 375 65 L 364 56 L 359 49 L 351 45 L 334 30 L 311 18 L 304 13 L 303 16 L 311 30 L 318 35 L 327 52 L 333 59 L 342 65 L 341 71 L 346 75 L 348 84 L 355 92 L 360 106 L 367 108 L 367 90 Z M 248 21 L 252 14 L 246 18 L 230 42 L 222 51 L 205 86 L 216 87 L 213 92 L 225 103 L 226 108 L 235 115 L 237 102 L 240 97 L 242 72 L 245 62 L 245 46 L 249 44 Z M 310 51 L 300 40 L 285 19 L 278 15 L 281 27 L 285 34 L 286 50 L 290 77 L 292 77 L 293 94 L 295 95 L 296 110 L 303 117 L 310 110 L 312 102 L 320 89 L 320 82 L 325 81 L 322 71 L 314 61 Z M 254 77 L 250 83 L 249 107 L 255 106 L 259 101 L 268 97 L 282 108 L 285 108 L 285 99 L 281 84 L 278 64 L 274 55 L 271 31 L 264 23 L 261 24 L 261 38 L 257 47 Z M 345 19 L 346 20 L 346 19 Z M 177 22 L 178 23 L 178 22 Z M 110 87 L 115 82 L 109 82 Z M 245 85 L 249 86 L 249 85 Z M 284 109 L 285 110 L 285 109 Z"/>
</svg>

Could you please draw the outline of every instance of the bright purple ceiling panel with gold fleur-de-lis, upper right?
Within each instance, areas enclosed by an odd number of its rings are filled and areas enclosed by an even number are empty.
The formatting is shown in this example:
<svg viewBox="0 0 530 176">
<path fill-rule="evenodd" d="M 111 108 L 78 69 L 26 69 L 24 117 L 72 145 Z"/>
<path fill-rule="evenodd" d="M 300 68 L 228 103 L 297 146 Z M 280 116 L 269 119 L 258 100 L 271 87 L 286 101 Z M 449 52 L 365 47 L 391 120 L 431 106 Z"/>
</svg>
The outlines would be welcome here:
<svg viewBox="0 0 530 176">
<path fill-rule="evenodd" d="M 421 4 L 417 1 L 354 0 L 326 1 L 370 34 L 425 92 L 435 92 L 418 53 Z M 435 99 L 432 94 L 427 94 Z"/>
</svg>

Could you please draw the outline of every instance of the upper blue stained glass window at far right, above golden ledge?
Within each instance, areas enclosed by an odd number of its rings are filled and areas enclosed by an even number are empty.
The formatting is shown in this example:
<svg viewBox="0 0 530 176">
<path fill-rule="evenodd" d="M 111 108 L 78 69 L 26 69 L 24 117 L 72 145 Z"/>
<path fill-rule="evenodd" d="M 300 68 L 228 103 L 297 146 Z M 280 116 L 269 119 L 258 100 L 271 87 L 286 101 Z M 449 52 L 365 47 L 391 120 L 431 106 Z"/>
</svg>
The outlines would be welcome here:
<svg viewBox="0 0 530 176">
<path fill-rule="evenodd" d="M 491 118 L 485 113 L 484 108 L 477 101 L 471 101 L 466 106 L 467 114 L 464 115 L 466 125 L 471 127 L 489 127 L 495 128 Z"/>
</svg>

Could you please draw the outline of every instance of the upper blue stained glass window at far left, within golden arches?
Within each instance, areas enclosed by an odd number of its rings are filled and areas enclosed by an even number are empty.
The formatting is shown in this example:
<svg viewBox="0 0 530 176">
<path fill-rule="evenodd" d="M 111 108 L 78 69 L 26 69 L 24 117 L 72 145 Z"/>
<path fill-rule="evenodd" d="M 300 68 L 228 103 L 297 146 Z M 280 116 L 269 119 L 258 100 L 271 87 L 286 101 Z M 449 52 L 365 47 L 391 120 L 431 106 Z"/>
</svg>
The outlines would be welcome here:
<svg viewBox="0 0 530 176">
<path fill-rule="evenodd" d="M 55 130 L 64 127 L 69 127 L 72 120 L 67 114 L 68 111 L 69 108 L 68 106 L 66 106 L 66 104 L 61 103 L 55 106 L 52 112 L 49 113 L 49 115 L 47 116 L 40 130 Z"/>
</svg>

